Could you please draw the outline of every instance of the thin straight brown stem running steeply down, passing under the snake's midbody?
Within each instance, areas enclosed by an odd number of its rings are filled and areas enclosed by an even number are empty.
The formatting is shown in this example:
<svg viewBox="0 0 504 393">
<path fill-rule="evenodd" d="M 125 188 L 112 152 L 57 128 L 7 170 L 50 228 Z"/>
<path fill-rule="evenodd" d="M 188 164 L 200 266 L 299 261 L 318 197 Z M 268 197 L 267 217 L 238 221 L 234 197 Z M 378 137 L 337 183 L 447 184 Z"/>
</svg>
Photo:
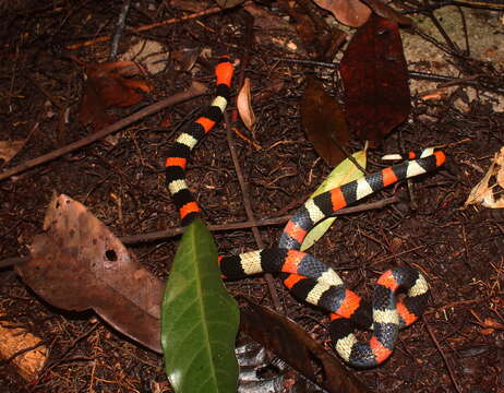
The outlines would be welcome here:
<svg viewBox="0 0 504 393">
<path fill-rule="evenodd" d="M 232 138 L 231 123 L 229 121 L 229 116 L 227 115 L 227 112 L 225 112 L 224 116 L 226 120 L 226 139 L 228 141 L 229 151 L 231 152 L 232 163 L 235 165 L 235 170 L 237 172 L 238 182 L 240 183 L 241 195 L 243 199 L 243 206 L 245 207 L 247 217 L 249 218 L 249 221 L 254 223 L 255 217 L 254 217 L 254 212 L 252 210 L 252 204 L 249 199 L 249 187 L 244 181 L 243 174 L 240 167 L 240 163 L 238 160 L 238 154 L 235 147 L 235 140 Z M 263 243 L 263 240 L 261 239 L 261 234 L 259 233 L 259 229 L 256 226 L 252 227 L 252 234 L 254 235 L 254 239 L 255 239 L 255 242 L 257 243 L 257 247 L 263 249 L 264 243 Z M 272 296 L 273 306 L 275 307 L 277 311 L 281 311 L 281 306 L 280 306 L 280 301 L 278 299 L 278 295 L 275 289 L 275 283 L 273 281 L 273 275 L 271 273 L 266 273 L 264 275 L 264 278 L 266 279 L 267 288 L 269 290 L 269 295 Z"/>
</svg>

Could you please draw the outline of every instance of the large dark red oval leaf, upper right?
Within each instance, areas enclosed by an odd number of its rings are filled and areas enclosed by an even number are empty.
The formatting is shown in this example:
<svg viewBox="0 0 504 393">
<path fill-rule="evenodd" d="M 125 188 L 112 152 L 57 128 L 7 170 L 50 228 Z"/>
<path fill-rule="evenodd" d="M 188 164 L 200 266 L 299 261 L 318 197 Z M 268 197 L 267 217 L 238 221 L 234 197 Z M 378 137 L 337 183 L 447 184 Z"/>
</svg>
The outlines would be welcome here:
<svg viewBox="0 0 504 393">
<path fill-rule="evenodd" d="M 411 109 L 397 25 L 373 14 L 352 37 L 339 70 L 348 126 L 376 147 Z"/>
</svg>

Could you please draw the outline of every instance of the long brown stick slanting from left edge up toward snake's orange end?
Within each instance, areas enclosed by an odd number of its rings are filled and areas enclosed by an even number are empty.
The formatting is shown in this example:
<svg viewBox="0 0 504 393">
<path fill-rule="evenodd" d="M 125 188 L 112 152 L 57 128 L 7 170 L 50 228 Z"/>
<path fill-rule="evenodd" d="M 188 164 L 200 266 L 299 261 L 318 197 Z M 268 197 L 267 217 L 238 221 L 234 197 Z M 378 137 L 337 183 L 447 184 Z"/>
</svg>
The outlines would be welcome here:
<svg viewBox="0 0 504 393">
<path fill-rule="evenodd" d="M 103 139 L 104 136 L 107 136 L 107 135 L 109 135 L 109 134 L 111 134 L 111 133 L 113 133 L 116 131 L 119 131 L 119 130 L 123 129 L 124 127 L 130 126 L 130 124 L 139 121 L 140 119 L 143 119 L 146 116 L 153 115 L 153 114 L 155 114 L 155 112 L 157 112 L 157 111 L 159 111 L 161 109 L 165 109 L 166 107 L 169 107 L 169 106 L 182 103 L 184 100 L 201 96 L 201 95 L 205 94 L 206 91 L 207 91 L 207 87 L 204 84 L 193 82 L 193 84 L 185 92 L 176 93 L 171 97 L 165 98 L 165 99 L 163 99 L 163 100 L 160 100 L 160 102 L 158 102 L 156 104 L 149 105 L 149 106 L 139 110 L 137 112 L 135 112 L 133 115 L 130 115 L 130 116 L 125 117 L 124 119 L 121 119 L 121 120 L 115 122 L 113 124 L 105 127 L 104 129 L 101 129 L 101 130 L 99 130 L 99 131 L 97 131 L 97 132 L 95 132 L 95 133 L 93 133 L 93 134 L 91 134 L 91 135 L 88 135 L 86 138 L 83 138 L 80 141 L 70 143 L 67 146 L 63 146 L 63 147 L 58 148 L 56 151 L 52 151 L 52 152 L 50 152 L 48 154 L 45 154 L 45 155 L 43 155 L 40 157 L 27 160 L 26 163 L 17 165 L 17 166 L 15 166 L 15 167 L 13 167 L 11 169 L 4 170 L 2 174 L 0 174 L 0 181 L 4 180 L 4 179 L 7 179 L 7 178 L 9 178 L 9 177 L 11 177 L 13 175 L 25 171 L 26 169 L 36 167 L 36 166 L 38 166 L 40 164 L 48 163 L 48 162 L 50 162 L 50 160 L 52 160 L 55 158 L 61 157 L 62 155 L 68 154 L 70 152 L 73 152 L 73 151 L 75 151 L 77 148 L 87 146 L 88 144 L 92 144 L 93 142 L 96 142 L 96 141 Z"/>
</svg>

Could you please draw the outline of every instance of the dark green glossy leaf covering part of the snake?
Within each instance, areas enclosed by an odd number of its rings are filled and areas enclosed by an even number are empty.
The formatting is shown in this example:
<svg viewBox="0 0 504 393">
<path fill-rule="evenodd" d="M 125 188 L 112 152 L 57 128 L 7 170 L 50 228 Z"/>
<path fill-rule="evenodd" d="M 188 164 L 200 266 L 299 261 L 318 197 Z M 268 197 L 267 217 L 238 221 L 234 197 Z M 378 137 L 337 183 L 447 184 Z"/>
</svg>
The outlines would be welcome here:
<svg viewBox="0 0 504 393">
<path fill-rule="evenodd" d="M 165 369 L 177 393 L 236 393 L 238 324 L 212 235 L 195 219 L 177 250 L 161 309 Z"/>
</svg>

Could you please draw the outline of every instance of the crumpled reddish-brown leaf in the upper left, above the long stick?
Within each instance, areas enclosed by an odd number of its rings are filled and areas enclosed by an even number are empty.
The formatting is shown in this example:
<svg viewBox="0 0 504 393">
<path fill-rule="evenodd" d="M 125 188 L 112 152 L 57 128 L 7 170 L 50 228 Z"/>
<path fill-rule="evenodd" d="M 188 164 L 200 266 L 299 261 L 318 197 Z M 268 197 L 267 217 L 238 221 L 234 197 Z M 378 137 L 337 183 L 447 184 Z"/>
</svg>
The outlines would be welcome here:
<svg viewBox="0 0 504 393">
<path fill-rule="evenodd" d="M 93 123 L 101 128 L 111 122 L 106 110 L 111 107 L 128 107 L 152 92 L 149 83 L 134 79 L 142 68 L 133 61 L 86 64 L 87 82 L 84 87 L 79 119 L 83 124 Z"/>
</svg>

